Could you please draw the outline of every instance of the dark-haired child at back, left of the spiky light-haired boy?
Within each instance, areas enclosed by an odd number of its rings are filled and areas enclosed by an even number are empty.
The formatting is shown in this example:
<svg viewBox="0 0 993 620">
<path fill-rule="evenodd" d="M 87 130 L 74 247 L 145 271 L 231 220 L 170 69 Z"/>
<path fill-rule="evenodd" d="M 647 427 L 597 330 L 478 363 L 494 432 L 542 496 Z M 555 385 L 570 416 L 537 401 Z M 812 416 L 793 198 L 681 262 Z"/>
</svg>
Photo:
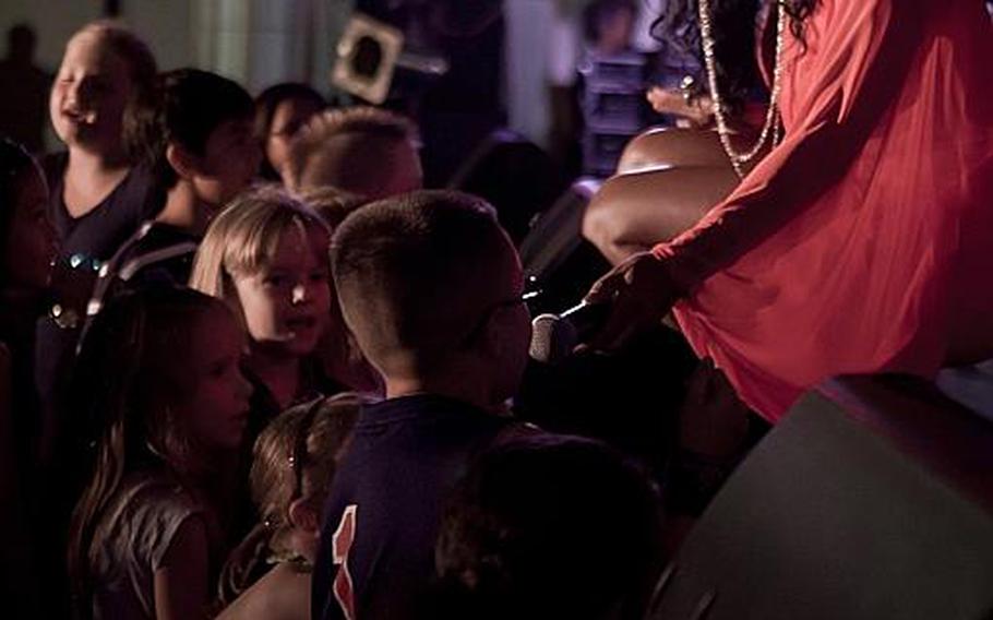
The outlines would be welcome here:
<svg viewBox="0 0 993 620">
<path fill-rule="evenodd" d="M 255 97 L 255 138 L 262 143 L 262 177 L 280 181 L 289 145 L 307 122 L 327 107 L 321 93 L 307 84 L 283 82 Z"/>
</svg>

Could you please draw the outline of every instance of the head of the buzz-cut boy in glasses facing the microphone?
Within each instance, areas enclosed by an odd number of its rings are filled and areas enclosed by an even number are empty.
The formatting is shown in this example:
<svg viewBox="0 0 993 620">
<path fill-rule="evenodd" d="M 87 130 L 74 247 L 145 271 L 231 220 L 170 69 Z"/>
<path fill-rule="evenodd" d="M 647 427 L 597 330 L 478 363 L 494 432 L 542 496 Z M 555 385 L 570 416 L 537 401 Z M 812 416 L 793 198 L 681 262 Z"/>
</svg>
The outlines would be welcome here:
<svg viewBox="0 0 993 620">
<path fill-rule="evenodd" d="M 364 205 L 332 240 L 346 322 L 369 359 L 429 367 L 462 347 L 499 302 L 513 248 L 482 199 L 417 191 Z"/>
</svg>

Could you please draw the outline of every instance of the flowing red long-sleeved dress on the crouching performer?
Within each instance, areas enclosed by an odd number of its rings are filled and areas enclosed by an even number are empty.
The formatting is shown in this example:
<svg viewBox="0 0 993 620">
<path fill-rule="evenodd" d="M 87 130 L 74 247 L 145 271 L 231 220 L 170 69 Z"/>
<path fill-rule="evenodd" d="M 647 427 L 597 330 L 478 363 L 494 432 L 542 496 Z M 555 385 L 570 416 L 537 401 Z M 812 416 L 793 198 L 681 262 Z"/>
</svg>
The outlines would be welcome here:
<svg viewBox="0 0 993 620">
<path fill-rule="evenodd" d="M 786 135 L 655 248 L 690 343 L 769 420 L 845 373 L 993 355 L 993 27 L 980 0 L 822 0 Z"/>
</svg>

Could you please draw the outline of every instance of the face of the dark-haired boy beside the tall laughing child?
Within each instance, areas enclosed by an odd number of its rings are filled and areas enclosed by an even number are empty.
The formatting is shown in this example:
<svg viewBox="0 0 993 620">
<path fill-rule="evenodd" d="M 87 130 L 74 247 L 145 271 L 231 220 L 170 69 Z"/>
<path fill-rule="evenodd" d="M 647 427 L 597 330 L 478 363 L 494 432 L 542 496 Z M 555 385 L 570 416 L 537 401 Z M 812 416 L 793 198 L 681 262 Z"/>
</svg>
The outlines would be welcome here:
<svg viewBox="0 0 993 620">
<path fill-rule="evenodd" d="M 214 128 L 198 159 L 198 174 L 193 176 L 196 198 L 223 206 L 246 189 L 259 171 L 262 150 L 252 134 L 250 119 L 230 119 Z"/>
</svg>

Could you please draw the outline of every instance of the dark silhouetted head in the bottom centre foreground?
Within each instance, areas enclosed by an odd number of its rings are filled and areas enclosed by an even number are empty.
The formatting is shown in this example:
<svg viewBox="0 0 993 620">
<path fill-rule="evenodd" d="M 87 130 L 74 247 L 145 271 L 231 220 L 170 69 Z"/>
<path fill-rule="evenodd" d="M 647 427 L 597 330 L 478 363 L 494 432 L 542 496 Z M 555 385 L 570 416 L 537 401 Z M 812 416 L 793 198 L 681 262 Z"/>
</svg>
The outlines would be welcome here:
<svg viewBox="0 0 993 620">
<path fill-rule="evenodd" d="M 648 479 L 599 442 L 517 438 L 482 455 L 441 524 L 434 618 L 644 618 L 661 568 Z"/>
</svg>

